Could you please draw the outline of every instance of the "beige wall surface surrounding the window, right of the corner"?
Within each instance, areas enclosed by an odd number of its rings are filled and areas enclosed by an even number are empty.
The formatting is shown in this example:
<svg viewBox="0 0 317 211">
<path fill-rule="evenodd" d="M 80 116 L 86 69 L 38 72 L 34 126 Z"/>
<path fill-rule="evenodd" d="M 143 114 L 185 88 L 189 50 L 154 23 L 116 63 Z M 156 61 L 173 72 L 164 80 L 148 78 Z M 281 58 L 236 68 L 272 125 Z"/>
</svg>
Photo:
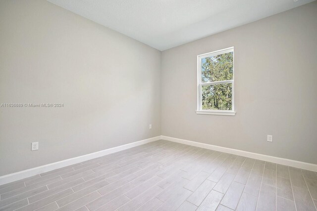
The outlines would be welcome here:
<svg viewBox="0 0 317 211">
<path fill-rule="evenodd" d="M 197 55 L 231 46 L 236 116 L 197 115 Z M 161 66 L 162 135 L 317 164 L 317 1 L 163 51 Z"/>
</svg>

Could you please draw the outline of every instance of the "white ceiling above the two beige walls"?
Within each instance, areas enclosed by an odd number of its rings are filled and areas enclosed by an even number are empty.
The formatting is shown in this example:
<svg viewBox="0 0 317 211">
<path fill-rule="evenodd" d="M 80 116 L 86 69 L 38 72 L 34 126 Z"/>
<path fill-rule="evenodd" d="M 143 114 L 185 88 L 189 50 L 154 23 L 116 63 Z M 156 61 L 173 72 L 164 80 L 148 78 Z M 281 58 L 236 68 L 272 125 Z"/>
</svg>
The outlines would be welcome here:
<svg viewBox="0 0 317 211">
<path fill-rule="evenodd" d="M 159 50 L 314 0 L 49 0 Z"/>
</svg>

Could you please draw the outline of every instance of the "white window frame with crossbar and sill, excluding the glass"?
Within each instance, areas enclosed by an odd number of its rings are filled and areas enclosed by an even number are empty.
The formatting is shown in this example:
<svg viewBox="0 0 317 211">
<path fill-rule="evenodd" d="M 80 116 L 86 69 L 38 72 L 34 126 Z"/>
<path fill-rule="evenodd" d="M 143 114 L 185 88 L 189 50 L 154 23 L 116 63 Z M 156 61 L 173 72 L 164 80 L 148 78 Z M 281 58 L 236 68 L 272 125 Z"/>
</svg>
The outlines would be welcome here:
<svg viewBox="0 0 317 211">
<path fill-rule="evenodd" d="M 223 53 L 233 52 L 233 79 L 228 81 L 217 82 L 202 82 L 202 59 L 210 56 L 216 56 Z M 204 53 L 197 56 L 197 111 L 196 114 L 209 114 L 209 115 L 227 115 L 234 116 L 236 114 L 234 110 L 234 48 L 228 47 L 221 50 L 212 51 L 210 53 Z M 214 85 L 214 84 L 232 84 L 232 110 L 203 110 L 202 109 L 202 85 Z"/>
</svg>

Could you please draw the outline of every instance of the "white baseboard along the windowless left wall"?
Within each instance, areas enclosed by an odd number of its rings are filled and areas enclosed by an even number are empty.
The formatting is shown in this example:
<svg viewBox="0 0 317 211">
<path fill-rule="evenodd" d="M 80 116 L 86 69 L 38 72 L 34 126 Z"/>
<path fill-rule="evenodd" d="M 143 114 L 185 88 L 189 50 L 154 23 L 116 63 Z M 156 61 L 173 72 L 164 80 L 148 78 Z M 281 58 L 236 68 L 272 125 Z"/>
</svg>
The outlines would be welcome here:
<svg viewBox="0 0 317 211">
<path fill-rule="evenodd" d="M 157 141 L 159 139 L 160 139 L 160 136 L 156 136 L 156 137 L 144 139 L 144 140 L 141 140 L 141 141 L 136 141 L 136 142 L 133 142 L 133 143 L 129 143 L 129 144 L 125 144 L 125 145 L 121 145 L 121 146 L 105 149 L 105 150 L 102 150 L 102 151 L 90 153 L 90 154 L 87 154 L 87 155 L 82 155 L 82 156 L 78 156 L 78 157 L 75 157 L 75 158 L 70 158 L 70 159 L 67 159 L 67 160 L 58 161 L 58 162 L 55 162 L 55 163 L 52 163 L 52 164 L 47 164 L 47 165 L 36 167 L 36 168 L 33 168 L 33 169 L 26 169 L 26 170 L 22 170 L 22 171 L 19 171 L 19 172 L 3 175 L 3 176 L 0 176 L 0 185 L 6 184 L 6 183 L 9 183 L 9 182 L 13 182 L 13 181 L 16 181 L 16 180 L 19 180 L 19 179 L 24 179 L 24 178 L 27 178 L 27 177 L 30 177 L 30 176 L 34 176 L 36 174 L 44 173 L 44 172 L 47 172 L 47 171 L 50 171 L 50 170 L 63 168 L 63 167 L 70 166 L 70 165 L 73 165 L 73 164 L 77 164 L 77 163 L 80 163 L 80 162 L 88 161 L 88 160 L 91 160 L 91 159 L 94 159 L 94 158 L 99 158 L 99 157 L 102 157 L 102 156 L 105 156 L 105 155 L 108 155 L 108 154 L 111 154 L 111 153 L 115 153 L 115 152 L 118 152 L 118 151 L 122 151 L 122 150 L 125 150 L 125 149 L 136 147 L 136 146 L 139 146 L 139 145 L 142 145 L 142 144 L 146 144 L 146 143 L 149 143 L 149 142 L 152 142 L 152 141 Z"/>
</svg>

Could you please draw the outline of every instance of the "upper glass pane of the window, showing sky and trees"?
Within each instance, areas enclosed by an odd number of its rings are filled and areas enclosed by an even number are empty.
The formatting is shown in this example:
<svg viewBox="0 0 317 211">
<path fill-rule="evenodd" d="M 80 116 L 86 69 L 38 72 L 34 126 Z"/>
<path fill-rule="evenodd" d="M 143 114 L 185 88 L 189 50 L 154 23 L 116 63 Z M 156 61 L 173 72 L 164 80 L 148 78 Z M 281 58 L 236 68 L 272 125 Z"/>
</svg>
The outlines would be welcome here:
<svg viewBox="0 0 317 211">
<path fill-rule="evenodd" d="M 233 80 L 233 52 L 202 58 L 202 82 Z"/>
</svg>

